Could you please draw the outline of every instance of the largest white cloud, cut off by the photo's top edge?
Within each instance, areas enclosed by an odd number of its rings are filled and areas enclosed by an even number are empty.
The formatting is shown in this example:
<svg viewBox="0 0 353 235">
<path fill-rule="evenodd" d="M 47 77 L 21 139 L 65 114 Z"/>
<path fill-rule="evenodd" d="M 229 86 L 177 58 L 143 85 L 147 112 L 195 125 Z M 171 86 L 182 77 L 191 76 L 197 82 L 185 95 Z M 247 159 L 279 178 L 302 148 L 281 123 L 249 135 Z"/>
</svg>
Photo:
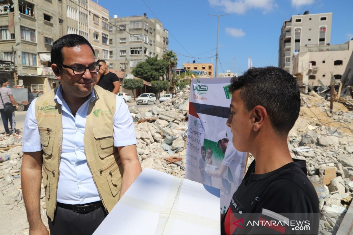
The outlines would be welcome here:
<svg viewBox="0 0 353 235">
<path fill-rule="evenodd" d="M 275 0 L 208 0 L 208 2 L 211 7 L 220 7 L 227 13 L 236 14 L 245 14 L 247 10 L 252 8 L 268 13 L 278 6 Z"/>
</svg>

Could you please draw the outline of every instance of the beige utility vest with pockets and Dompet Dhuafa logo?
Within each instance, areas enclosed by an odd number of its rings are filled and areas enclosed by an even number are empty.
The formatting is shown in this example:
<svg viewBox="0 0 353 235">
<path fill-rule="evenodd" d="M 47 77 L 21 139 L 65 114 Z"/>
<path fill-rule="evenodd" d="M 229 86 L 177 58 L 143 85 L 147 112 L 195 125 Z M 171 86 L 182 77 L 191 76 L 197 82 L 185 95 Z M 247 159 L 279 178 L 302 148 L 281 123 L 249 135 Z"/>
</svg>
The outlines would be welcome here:
<svg viewBox="0 0 353 235">
<path fill-rule="evenodd" d="M 35 115 L 43 150 L 43 185 L 47 215 L 54 220 L 60 155 L 62 149 L 62 109 L 55 103 L 56 89 L 38 97 Z M 84 149 L 89 169 L 110 212 L 119 200 L 123 173 L 118 149 L 113 144 L 113 116 L 116 95 L 95 86 L 96 99 L 90 101 L 84 133 Z"/>
</svg>

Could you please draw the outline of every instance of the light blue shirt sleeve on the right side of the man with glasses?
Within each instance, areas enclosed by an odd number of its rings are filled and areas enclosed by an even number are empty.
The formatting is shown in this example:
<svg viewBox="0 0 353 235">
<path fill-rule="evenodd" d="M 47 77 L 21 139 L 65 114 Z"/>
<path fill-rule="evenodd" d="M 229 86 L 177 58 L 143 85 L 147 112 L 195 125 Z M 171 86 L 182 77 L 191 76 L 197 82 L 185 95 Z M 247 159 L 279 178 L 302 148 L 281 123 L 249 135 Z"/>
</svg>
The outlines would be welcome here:
<svg viewBox="0 0 353 235">
<path fill-rule="evenodd" d="M 122 147 L 137 143 L 130 111 L 124 103 L 124 100 L 118 95 L 116 96 L 113 130 L 114 146 Z"/>
</svg>

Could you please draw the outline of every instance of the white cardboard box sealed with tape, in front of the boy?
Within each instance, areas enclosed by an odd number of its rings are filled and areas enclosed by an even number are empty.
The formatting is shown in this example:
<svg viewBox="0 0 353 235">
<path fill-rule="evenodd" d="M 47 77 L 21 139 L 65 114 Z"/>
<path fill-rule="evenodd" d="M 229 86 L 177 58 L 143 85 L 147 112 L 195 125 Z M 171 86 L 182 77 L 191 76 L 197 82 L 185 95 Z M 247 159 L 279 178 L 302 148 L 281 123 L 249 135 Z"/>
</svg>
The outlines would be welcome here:
<svg viewBox="0 0 353 235">
<path fill-rule="evenodd" d="M 220 191 L 145 168 L 94 235 L 220 234 Z"/>
</svg>

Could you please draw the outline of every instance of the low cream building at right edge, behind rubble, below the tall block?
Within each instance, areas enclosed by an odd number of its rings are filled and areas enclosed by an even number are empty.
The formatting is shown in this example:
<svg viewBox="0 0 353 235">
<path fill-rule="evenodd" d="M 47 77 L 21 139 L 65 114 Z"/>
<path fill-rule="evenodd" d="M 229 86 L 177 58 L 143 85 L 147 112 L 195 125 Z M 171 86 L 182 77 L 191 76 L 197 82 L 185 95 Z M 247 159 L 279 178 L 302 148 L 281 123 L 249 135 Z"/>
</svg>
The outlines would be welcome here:
<svg viewBox="0 0 353 235">
<path fill-rule="evenodd" d="M 299 86 L 328 86 L 331 73 L 335 82 L 341 80 L 352 57 L 353 41 L 338 45 L 307 45 L 293 57 L 293 75 Z"/>
</svg>

